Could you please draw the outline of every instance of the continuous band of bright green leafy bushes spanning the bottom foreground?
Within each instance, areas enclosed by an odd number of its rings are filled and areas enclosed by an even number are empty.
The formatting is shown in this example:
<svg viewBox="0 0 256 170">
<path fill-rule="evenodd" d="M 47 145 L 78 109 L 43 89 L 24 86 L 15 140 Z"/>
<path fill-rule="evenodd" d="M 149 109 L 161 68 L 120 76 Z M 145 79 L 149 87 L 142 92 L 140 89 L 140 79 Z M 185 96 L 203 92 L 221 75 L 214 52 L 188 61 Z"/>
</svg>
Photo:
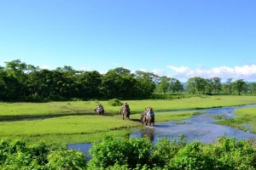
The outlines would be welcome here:
<svg viewBox="0 0 256 170">
<path fill-rule="evenodd" d="M 0 140 L 1 169 L 256 169 L 252 141 L 219 138 L 213 144 L 177 139 L 147 139 L 107 136 L 93 144 L 89 162 L 76 150 L 26 145 L 21 140 Z"/>
</svg>

